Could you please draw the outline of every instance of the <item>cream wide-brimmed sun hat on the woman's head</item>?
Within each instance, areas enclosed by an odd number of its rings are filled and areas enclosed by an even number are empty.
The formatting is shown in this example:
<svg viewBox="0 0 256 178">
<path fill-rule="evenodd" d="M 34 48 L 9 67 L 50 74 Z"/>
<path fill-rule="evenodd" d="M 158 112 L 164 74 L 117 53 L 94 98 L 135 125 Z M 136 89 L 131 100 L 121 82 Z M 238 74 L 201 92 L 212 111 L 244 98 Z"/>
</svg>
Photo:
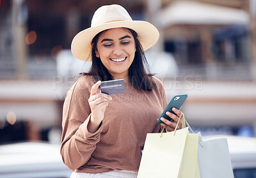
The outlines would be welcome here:
<svg viewBox="0 0 256 178">
<path fill-rule="evenodd" d="M 152 47 L 159 38 L 156 27 L 145 21 L 132 20 L 122 6 L 116 4 L 101 6 L 93 15 L 91 27 L 84 29 L 74 37 L 71 44 L 72 54 L 82 61 L 92 61 L 91 43 L 94 36 L 100 31 L 118 27 L 136 31 L 144 51 Z"/>
</svg>

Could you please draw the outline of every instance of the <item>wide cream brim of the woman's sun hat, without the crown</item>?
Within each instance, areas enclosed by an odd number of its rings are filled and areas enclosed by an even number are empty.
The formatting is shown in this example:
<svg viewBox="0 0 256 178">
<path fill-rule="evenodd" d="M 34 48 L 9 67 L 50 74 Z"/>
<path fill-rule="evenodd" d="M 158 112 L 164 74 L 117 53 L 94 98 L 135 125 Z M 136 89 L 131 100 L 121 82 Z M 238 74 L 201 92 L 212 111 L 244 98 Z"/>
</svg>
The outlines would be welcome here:
<svg viewBox="0 0 256 178">
<path fill-rule="evenodd" d="M 125 27 L 136 31 L 138 40 L 143 47 L 143 51 L 152 47 L 159 38 L 159 31 L 152 24 L 141 20 L 127 20 L 109 22 L 96 27 L 90 27 L 76 34 L 71 43 L 72 54 L 82 61 L 92 61 L 92 40 L 100 31 Z"/>
</svg>

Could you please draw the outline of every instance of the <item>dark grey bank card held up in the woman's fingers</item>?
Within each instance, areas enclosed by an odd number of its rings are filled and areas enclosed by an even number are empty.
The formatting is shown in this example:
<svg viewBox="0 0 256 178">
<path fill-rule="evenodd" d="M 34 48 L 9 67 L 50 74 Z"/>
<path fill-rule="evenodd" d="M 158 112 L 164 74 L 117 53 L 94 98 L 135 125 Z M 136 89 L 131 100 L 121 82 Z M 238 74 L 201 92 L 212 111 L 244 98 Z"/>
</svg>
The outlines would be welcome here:
<svg viewBox="0 0 256 178">
<path fill-rule="evenodd" d="M 108 80 L 108 81 L 101 82 L 100 90 L 101 90 L 101 93 L 106 93 L 106 94 L 125 93 L 124 79 Z"/>
</svg>

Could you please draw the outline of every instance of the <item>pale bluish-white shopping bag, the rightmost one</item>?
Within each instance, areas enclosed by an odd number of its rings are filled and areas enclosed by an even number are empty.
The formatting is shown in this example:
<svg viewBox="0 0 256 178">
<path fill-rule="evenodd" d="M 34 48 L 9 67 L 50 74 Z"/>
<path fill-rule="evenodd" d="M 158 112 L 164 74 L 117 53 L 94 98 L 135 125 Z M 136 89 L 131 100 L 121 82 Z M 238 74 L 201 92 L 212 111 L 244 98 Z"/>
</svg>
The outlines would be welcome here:
<svg viewBox="0 0 256 178">
<path fill-rule="evenodd" d="M 200 142 L 198 162 L 202 178 L 234 177 L 227 138 Z"/>
</svg>

